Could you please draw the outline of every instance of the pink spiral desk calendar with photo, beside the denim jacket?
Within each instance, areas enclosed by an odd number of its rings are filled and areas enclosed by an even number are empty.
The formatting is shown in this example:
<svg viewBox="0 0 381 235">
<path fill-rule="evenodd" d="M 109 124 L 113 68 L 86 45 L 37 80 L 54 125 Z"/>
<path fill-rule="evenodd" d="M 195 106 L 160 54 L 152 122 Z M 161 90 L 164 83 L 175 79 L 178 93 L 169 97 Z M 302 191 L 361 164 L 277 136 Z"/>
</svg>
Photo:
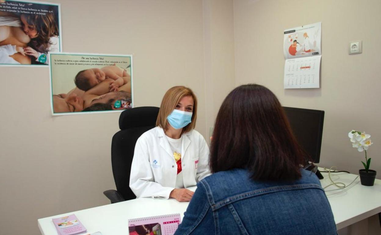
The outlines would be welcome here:
<svg viewBox="0 0 381 235">
<path fill-rule="evenodd" d="M 180 214 L 129 219 L 128 230 L 130 235 L 173 235 L 180 223 Z"/>
</svg>

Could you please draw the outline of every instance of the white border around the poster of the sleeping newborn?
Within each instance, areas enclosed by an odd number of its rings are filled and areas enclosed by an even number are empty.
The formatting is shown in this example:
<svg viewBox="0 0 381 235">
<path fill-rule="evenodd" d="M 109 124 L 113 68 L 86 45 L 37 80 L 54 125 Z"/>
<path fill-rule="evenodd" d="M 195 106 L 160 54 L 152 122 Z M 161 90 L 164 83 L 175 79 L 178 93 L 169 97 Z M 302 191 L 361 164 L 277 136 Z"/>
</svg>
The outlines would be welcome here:
<svg viewBox="0 0 381 235">
<path fill-rule="evenodd" d="M 130 68 L 131 68 L 131 101 L 132 106 L 131 109 L 135 107 L 134 102 L 134 79 L 133 79 L 133 59 L 132 54 L 102 54 L 102 53 L 79 53 L 79 52 L 48 52 L 49 61 L 51 61 L 52 54 L 60 54 L 60 55 L 77 55 L 77 56 L 115 56 L 115 57 L 130 57 Z M 105 111 L 90 111 L 90 112 L 66 112 L 66 113 L 54 113 L 53 111 L 53 82 L 51 76 L 51 63 L 49 66 L 49 86 L 50 86 L 50 110 L 53 116 L 62 116 L 62 115 L 78 115 L 78 114 L 104 114 L 104 113 L 120 113 L 126 109 L 121 110 L 105 110 Z"/>
</svg>

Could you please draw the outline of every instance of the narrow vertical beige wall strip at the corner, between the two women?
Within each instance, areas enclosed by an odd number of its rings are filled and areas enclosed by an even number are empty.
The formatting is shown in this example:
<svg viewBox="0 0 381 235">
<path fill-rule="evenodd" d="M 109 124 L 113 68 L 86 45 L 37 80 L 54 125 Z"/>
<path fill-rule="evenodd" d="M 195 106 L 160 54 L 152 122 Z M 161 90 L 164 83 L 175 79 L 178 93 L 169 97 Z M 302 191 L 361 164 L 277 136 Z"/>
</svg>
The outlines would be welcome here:
<svg viewBox="0 0 381 235">
<path fill-rule="evenodd" d="M 204 0 L 203 12 L 205 98 L 210 137 L 219 107 L 235 86 L 233 0 Z"/>
</svg>

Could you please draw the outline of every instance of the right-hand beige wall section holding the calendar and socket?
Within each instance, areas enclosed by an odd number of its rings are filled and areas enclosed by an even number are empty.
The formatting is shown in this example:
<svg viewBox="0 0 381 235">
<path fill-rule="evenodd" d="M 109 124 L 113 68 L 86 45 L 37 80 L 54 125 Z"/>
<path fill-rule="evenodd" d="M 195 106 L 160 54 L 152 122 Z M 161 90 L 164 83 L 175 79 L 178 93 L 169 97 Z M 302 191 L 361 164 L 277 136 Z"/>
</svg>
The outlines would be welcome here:
<svg viewBox="0 0 381 235">
<path fill-rule="evenodd" d="M 338 166 L 356 174 L 359 153 L 347 137 L 366 131 L 371 169 L 381 178 L 379 108 L 381 1 L 235 0 L 235 81 L 267 86 L 284 106 L 325 110 L 320 166 Z M 283 89 L 283 30 L 322 22 L 319 89 Z M 348 54 L 349 41 L 362 40 L 362 54 Z"/>
</svg>

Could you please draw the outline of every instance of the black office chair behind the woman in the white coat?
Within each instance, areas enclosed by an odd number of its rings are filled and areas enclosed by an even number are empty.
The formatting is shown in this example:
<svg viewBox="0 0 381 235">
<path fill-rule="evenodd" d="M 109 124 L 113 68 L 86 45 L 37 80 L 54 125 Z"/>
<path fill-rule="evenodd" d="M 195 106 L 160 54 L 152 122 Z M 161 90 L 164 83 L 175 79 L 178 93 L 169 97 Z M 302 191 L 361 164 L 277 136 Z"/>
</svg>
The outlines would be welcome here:
<svg viewBox="0 0 381 235">
<path fill-rule="evenodd" d="M 111 203 L 136 198 L 129 187 L 135 144 L 141 134 L 155 127 L 158 113 L 158 107 L 137 107 L 120 114 L 120 131 L 114 134 L 111 142 L 112 173 L 117 190 L 103 192 Z"/>
</svg>

